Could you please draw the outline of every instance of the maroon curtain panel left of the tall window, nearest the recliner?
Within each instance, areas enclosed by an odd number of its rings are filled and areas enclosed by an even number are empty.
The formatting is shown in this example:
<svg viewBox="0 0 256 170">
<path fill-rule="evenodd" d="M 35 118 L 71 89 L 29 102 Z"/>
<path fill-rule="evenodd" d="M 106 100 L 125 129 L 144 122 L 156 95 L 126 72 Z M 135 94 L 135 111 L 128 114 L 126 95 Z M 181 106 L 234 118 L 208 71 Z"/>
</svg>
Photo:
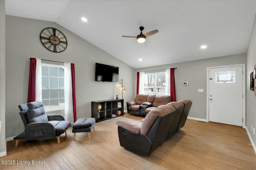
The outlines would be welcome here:
<svg viewBox="0 0 256 170">
<path fill-rule="evenodd" d="M 30 58 L 28 79 L 28 103 L 36 101 L 36 59 Z"/>
</svg>

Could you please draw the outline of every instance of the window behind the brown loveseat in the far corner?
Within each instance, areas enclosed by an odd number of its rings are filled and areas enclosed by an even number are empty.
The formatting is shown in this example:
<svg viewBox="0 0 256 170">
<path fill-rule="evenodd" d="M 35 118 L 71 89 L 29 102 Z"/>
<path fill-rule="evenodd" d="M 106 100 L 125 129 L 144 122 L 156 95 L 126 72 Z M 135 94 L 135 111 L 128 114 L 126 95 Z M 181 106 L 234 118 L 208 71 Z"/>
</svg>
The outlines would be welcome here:
<svg viewBox="0 0 256 170">
<path fill-rule="evenodd" d="M 166 72 L 144 72 L 144 94 L 166 94 Z"/>
</svg>

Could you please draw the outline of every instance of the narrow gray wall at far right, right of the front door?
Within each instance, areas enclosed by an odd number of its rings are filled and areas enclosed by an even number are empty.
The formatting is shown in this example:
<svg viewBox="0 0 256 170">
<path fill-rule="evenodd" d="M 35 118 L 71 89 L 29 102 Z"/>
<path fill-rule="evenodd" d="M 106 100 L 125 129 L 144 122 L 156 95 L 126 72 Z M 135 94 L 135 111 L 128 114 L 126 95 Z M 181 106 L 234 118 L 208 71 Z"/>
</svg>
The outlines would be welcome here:
<svg viewBox="0 0 256 170">
<path fill-rule="evenodd" d="M 256 15 L 248 45 L 246 63 L 246 127 L 250 133 L 250 136 L 252 137 L 255 147 L 256 135 L 253 135 L 251 127 L 256 130 L 256 97 L 254 96 L 254 92 L 250 90 L 250 73 L 254 68 L 254 64 L 256 64 Z M 256 148 L 254 149 L 256 152 Z"/>
</svg>

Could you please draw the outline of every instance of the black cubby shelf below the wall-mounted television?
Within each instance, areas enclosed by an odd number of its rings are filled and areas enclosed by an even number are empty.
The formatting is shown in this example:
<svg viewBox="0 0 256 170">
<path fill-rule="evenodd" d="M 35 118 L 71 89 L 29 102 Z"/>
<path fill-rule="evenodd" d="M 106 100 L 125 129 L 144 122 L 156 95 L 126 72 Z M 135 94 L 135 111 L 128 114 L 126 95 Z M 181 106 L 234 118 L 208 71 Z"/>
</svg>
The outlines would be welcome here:
<svg viewBox="0 0 256 170">
<path fill-rule="evenodd" d="M 101 105 L 101 109 L 99 111 L 98 105 Z M 118 115 L 118 111 L 121 112 L 120 115 Z M 112 119 L 122 115 L 124 115 L 123 99 L 92 101 L 92 117 L 95 118 L 96 122 Z"/>
</svg>

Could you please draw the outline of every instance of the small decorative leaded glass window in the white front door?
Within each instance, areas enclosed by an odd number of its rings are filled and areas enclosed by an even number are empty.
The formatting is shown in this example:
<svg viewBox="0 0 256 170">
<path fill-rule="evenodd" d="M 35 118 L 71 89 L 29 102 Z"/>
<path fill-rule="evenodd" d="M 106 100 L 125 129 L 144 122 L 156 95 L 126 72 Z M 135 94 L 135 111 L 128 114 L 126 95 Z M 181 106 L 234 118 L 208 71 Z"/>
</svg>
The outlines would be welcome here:
<svg viewBox="0 0 256 170">
<path fill-rule="evenodd" d="M 236 83 L 236 71 L 215 72 L 215 83 Z"/>
</svg>

